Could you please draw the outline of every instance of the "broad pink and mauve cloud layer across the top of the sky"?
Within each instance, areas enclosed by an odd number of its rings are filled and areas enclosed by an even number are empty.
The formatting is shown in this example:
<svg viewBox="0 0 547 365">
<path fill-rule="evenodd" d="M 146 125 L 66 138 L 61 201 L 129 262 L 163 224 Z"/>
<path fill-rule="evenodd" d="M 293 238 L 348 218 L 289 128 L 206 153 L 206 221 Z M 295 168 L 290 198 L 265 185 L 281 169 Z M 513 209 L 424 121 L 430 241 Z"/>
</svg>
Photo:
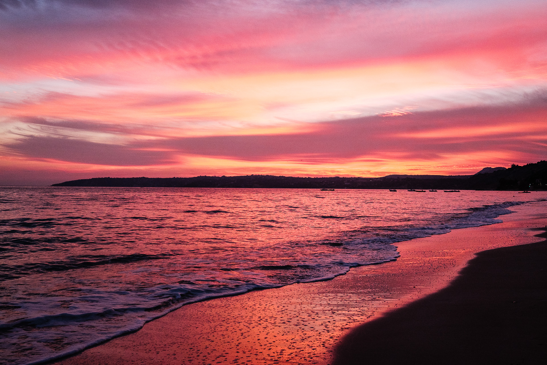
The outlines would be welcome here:
<svg viewBox="0 0 547 365">
<path fill-rule="evenodd" d="M 529 61 L 547 34 L 547 5 L 537 1 L 172 1 L 153 11 L 144 2 L 55 3 L 42 13 L 5 12 L 2 56 L 11 72 L 83 77 L 154 63 L 241 73 L 463 54 L 510 66 Z"/>
</svg>

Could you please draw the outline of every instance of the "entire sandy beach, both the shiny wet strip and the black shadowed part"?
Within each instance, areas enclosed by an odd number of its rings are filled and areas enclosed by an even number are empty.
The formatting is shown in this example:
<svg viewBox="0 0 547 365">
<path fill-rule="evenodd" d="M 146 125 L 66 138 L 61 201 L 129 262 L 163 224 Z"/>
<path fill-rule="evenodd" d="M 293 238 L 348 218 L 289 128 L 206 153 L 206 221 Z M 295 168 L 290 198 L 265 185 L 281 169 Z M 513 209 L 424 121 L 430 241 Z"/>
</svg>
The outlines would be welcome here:
<svg viewBox="0 0 547 365">
<path fill-rule="evenodd" d="M 547 309 L 545 274 L 539 271 L 547 245 L 534 235 L 547 224 L 547 204 L 537 202 L 511 210 L 515 213 L 499 218 L 503 223 L 399 242 L 397 261 L 353 268 L 331 281 L 183 306 L 135 333 L 55 363 L 488 363 L 485 359 L 494 358 L 488 346 L 494 345 L 496 351 L 504 349 L 499 356 L 529 349 L 545 354 L 544 337 L 534 336 L 544 326 Z M 476 253 L 501 247 L 506 248 L 481 253 L 466 266 Z M 458 276 L 462 268 L 463 275 Z M 526 276 L 533 270 L 536 276 Z M 493 285 L 498 277 L 499 284 Z M 511 288 L 522 289 L 511 292 Z M 486 294 L 477 294 L 486 289 Z M 491 309 L 496 300 L 502 304 Z M 455 310 L 461 306 L 465 310 Z M 536 317 L 539 312 L 543 317 Z M 475 317 L 469 318 L 470 313 Z M 478 321 L 482 317 L 487 319 Z M 420 325 L 426 318 L 430 320 Z M 485 321 L 497 325 L 485 326 Z M 473 332 L 469 323 L 486 329 Z M 485 339 L 520 328 L 519 323 L 526 324 L 529 335 L 523 338 L 519 330 L 522 341 L 517 347 Z M 452 337 L 438 339 L 438 333 Z M 514 333 L 508 338 L 513 339 Z M 470 343 L 474 345 L 469 347 Z M 463 356 L 458 349 L 470 352 Z M 439 362 L 444 351 L 455 360 Z M 402 361 L 405 356 L 408 360 Z M 533 356 L 504 363 L 537 363 Z"/>
</svg>

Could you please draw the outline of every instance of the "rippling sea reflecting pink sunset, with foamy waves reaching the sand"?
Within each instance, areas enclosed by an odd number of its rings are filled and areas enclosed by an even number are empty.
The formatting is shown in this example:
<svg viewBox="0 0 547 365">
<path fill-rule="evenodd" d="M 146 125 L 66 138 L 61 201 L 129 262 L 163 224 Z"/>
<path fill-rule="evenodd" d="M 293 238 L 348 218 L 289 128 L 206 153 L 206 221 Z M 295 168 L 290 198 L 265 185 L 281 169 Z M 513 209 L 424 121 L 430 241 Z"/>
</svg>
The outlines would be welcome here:
<svg viewBox="0 0 547 365">
<path fill-rule="evenodd" d="M 396 242 L 498 223 L 511 206 L 547 195 L 71 187 L 0 194 L 0 363 L 16 365 L 72 354 L 184 304 L 389 262 L 399 257 Z"/>
</svg>

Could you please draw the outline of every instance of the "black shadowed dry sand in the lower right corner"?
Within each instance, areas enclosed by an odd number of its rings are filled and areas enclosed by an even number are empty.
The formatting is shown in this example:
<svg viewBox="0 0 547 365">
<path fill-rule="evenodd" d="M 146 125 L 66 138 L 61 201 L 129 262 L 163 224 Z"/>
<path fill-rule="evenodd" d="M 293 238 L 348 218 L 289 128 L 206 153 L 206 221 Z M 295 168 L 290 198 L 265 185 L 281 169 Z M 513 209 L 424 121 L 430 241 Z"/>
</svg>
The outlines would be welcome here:
<svg viewBox="0 0 547 365">
<path fill-rule="evenodd" d="M 545 240 L 482 251 L 449 286 L 353 328 L 332 364 L 544 364 L 547 227 L 536 230 Z"/>
</svg>

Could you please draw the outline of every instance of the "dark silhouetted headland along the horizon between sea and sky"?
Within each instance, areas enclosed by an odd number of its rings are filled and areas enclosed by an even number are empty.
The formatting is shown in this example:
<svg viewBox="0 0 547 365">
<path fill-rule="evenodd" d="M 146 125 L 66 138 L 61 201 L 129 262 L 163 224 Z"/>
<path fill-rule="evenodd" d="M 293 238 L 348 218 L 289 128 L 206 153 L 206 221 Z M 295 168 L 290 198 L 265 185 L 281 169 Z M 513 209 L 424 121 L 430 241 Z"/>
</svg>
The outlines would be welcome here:
<svg viewBox="0 0 547 365">
<path fill-rule="evenodd" d="M 196 177 L 95 177 L 51 186 L 143 188 L 462 189 L 546 190 L 547 161 L 485 167 L 475 175 L 388 175 L 384 177 L 292 177 L 272 175 Z"/>
</svg>

